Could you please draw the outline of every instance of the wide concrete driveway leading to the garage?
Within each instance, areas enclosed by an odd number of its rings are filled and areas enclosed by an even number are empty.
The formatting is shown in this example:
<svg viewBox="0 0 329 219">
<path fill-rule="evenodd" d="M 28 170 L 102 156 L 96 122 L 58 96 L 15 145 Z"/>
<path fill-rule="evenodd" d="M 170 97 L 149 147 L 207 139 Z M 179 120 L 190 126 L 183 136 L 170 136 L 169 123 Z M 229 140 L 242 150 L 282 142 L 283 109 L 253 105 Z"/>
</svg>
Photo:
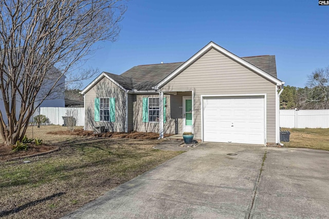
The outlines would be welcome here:
<svg viewBox="0 0 329 219">
<path fill-rule="evenodd" d="M 64 218 L 328 217 L 328 167 L 325 151 L 205 142 Z"/>
</svg>

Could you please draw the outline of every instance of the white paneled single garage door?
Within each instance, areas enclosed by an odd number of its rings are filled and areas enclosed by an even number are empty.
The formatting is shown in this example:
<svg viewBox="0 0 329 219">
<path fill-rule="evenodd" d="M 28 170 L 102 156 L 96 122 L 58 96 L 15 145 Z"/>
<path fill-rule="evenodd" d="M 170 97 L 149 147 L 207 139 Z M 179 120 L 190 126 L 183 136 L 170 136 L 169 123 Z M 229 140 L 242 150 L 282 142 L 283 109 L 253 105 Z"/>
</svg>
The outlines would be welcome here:
<svg viewBox="0 0 329 219">
<path fill-rule="evenodd" d="M 264 144 L 264 97 L 205 97 L 204 141 Z"/>
</svg>

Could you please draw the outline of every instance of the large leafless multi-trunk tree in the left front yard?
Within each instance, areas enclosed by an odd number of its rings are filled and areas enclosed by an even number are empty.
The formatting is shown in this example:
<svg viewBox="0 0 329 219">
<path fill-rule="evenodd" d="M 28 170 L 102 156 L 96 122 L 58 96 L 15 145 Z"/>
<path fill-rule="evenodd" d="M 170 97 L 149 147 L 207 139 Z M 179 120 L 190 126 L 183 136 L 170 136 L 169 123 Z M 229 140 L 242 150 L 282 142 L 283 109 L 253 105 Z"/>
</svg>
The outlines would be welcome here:
<svg viewBox="0 0 329 219">
<path fill-rule="evenodd" d="M 98 41 L 116 41 L 124 0 L 6 0 L 0 3 L 0 135 L 14 144 L 35 108 L 79 69 Z M 16 107 L 20 108 L 16 113 Z M 4 118 L 8 118 L 6 124 Z"/>
</svg>

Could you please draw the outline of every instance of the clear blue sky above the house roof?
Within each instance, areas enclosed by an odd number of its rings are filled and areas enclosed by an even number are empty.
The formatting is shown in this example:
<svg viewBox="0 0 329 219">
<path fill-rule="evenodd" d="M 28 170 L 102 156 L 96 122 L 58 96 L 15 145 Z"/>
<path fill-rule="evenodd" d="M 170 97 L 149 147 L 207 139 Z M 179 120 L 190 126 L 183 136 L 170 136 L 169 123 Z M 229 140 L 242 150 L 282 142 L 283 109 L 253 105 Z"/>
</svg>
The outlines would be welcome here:
<svg viewBox="0 0 329 219">
<path fill-rule="evenodd" d="M 98 43 L 102 49 L 85 68 L 120 75 L 136 65 L 182 62 L 210 41 L 239 57 L 276 55 L 285 85 L 304 87 L 307 75 L 329 66 L 329 6 L 317 0 L 131 0 L 127 6 L 118 41 Z"/>
</svg>

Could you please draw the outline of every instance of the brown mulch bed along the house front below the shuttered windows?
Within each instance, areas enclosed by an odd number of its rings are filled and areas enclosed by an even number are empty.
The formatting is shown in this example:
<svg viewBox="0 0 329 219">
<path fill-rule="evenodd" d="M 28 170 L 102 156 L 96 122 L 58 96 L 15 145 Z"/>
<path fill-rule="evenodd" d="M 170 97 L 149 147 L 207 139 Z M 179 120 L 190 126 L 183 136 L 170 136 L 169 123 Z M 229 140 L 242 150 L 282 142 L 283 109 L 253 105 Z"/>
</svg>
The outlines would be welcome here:
<svg viewBox="0 0 329 219">
<path fill-rule="evenodd" d="M 67 131 L 56 131 L 48 132 L 47 134 L 52 135 L 78 135 L 78 136 L 95 136 L 95 137 L 107 137 L 107 138 L 131 138 L 131 139 L 157 139 L 159 137 L 158 133 L 154 132 L 106 132 L 95 134 L 93 131 L 84 131 L 83 129 L 76 129 L 73 132 Z M 171 136 L 165 134 L 165 137 Z"/>
</svg>

